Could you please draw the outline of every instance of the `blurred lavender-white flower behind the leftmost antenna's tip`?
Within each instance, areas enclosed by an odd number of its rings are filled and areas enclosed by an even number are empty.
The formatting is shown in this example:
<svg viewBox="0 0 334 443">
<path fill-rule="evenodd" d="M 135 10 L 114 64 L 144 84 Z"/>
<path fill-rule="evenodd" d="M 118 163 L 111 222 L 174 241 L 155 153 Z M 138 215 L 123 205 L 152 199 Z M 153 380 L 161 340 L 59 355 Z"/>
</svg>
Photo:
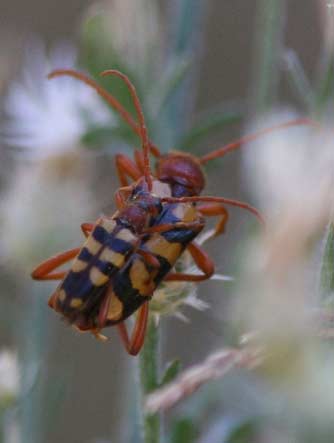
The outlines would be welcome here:
<svg viewBox="0 0 334 443">
<path fill-rule="evenodd" d="M 111 124 L 112 114 L 87 85 L 67 77 L 47 79 L 53 69 L 74 68 L 75 63 L 76 51 L 69 44 L 47 55 L 40 40 L 30 42 L 21 79 L 5 99 L 4 142 L 44 158 L 73 148 L 88 125 Z"/>
</svg>

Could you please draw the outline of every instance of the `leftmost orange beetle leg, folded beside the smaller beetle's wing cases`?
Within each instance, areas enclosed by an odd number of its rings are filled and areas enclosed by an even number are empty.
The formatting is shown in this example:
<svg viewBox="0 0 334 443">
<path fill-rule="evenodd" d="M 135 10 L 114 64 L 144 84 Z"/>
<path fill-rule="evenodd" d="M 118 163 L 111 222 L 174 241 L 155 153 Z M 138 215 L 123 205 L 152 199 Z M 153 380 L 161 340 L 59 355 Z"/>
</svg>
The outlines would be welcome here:
<svg viewBox="0 0 334 443">
<path fill-rule="evenodd" d="M 66 275 L 66 271 L 52 271 L 59 268 L 59 266 L 63 265 L 64 263 L 72 260 L 76 255 L 78 255 L 80 249 L 81 248 L 69 249 L 68 251 L 61 252 L 49 258 L 32 271 L 31 277 L 34 280 L 62 280 Z"/>
</svg>

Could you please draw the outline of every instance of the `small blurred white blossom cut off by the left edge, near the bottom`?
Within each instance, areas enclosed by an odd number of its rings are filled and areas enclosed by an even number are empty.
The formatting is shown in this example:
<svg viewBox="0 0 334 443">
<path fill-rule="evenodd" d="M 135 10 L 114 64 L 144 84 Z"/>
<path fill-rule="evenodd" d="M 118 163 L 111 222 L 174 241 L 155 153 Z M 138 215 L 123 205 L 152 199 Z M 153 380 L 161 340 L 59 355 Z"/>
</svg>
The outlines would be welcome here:
<svg viewBox="0 0 334 443">
<path fill-rule="evenodd" d="M 15 352 L 8 349 L 0 351 L 0 407 L 11 404 L 18 395 L 20 371 Z"/>
</svg>

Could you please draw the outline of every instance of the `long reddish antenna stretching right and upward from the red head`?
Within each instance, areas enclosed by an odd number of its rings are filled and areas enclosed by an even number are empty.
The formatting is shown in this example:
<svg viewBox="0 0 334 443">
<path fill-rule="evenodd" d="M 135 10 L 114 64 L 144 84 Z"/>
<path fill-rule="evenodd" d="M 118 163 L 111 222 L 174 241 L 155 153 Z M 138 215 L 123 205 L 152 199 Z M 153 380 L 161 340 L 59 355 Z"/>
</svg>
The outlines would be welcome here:
<svg viewBox="0 0 334 443">
<path fill-rule="evenodd" d="M 242 146 L 243 144 L 252 142 L 252 141 L 256 140 L 257 138 L 259 138 L 263 135 L 269 134 L 273 131 L 289 128 L 290 126 L 303 126 L 303 125 L 319 127 L 318 123 L 316 123 L 313 120 L 310 120 L 308 118 L 299 118 L 299 119 L 295 119 L 295 120 L 290 120 L 288 122 L 281 123 L 281 124 L 278 124 L 275 126 L 271 126 L 270 128 L 266 128 L 261 131 L 255 132 L 254 134 L 250 134 L 250 135 L 246 135 L 245 137 L 241 137 L 240 139 L 235 140 L 235 141 L 233 141 L 221 148 L 218 148 L 212 152 L 209 152 L 209 154 L 203 155 L 203 157 L 201 157 L 199 159 L 199 161 L 201 164 L 207 163 L 208 161 L 213 160 L 215 158 L 223 157 L 228 152 L 231 152 L 231 151 L 234 151 L 235 149 L 240 148 L 240 146 Z"/>
</svg>

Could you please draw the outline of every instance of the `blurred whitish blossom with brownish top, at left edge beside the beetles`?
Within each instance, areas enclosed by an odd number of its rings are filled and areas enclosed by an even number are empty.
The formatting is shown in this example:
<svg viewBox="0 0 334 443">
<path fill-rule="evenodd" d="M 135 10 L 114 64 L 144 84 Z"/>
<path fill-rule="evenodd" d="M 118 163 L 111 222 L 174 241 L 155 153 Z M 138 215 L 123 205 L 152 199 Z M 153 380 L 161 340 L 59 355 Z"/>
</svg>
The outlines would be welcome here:
<svg viewBox="0 0 334 443">
<path fill-rule="evenodd" d="M 91 220 L 96 197 L 91 168 L 80 153 L 38 163 L 20 163 L 0 204 L 1 256 L 30 273 L 42 259 L 78 246 L 80 223 Z"/>
</svg>

